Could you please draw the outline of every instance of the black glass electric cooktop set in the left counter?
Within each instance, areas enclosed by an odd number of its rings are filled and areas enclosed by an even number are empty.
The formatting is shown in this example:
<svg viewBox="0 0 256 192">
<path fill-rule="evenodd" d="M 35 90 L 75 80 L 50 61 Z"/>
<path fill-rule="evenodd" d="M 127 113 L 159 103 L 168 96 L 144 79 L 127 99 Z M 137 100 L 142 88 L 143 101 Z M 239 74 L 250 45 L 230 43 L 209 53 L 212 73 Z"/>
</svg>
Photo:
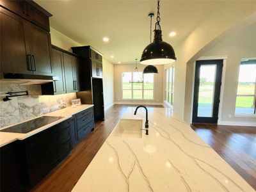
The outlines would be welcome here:
<svg viewBox="0 0 256 192">
<path fill-rule="evenodd" d="M 17 132 L 17 133 L 27 133 L 43 127 L 44 125 L 51 124 L 56 120 L 63 118 L 63 116 L 41 116 L 30 120 L 28 122 L 24 122 L 21 124 L 14 125 L 12 127 L 8 127 L 6 129 L 0 130 L 0 132 Z"/>
</svg>

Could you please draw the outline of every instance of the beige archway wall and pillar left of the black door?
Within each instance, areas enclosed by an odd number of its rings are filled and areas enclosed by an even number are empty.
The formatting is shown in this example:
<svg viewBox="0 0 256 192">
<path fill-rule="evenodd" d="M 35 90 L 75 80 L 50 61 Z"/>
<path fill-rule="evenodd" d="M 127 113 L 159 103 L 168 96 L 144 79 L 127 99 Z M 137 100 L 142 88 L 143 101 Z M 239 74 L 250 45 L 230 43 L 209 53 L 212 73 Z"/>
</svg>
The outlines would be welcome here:
<svg viewBox="0 0 256 192">
<path fill-rule="evenodd" d="M 228 8 L 214 9 L 208 17 L 191 31 L 178 47 L 174 47 L 177 56 L 175 63 L 175 97 L 174 110 L 177 115 L 186 122 L 191 116 L 191 84 L 193 84 L 192 61 L 199 58 L 201 52 L 207 47 L 220 42 L 221 37 L 227 37 L 229 32 L 237 28 L 248 26 L 256 20 L 256 1 L 236 1 Z M 225 34 L 224 34 L 225 33 Z M 224 35 L 223 35 L 224 34 Z M 169 67 L 165 65 L 164 68 Z"/>
</svg>

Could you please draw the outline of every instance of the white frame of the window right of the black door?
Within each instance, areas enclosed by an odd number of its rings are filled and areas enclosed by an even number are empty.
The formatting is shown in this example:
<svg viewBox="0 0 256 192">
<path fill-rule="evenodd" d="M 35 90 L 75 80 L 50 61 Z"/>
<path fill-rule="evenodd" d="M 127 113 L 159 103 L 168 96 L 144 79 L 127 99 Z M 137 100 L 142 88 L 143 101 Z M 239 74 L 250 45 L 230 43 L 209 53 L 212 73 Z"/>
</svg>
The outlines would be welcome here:
<svg viewBox="0 0 256 192">
<path fill-rule="evenodd" d="M 256 58 L 242 58 L 242 60 L 256 60 Z M 238 89 L 239 89 L 239 76 L 240 76 L 240 71 L 241 71 L 241 65 L 246 65 L 246 64 L 242 64 L 242 63 L 239 64 L 238 79 L 237 79 L 237 90 L 236 90 L 236 102 L 237 102 L 237 97 L 253 97 L 254 111 L 253 111 L 253 114 L 236 113 L 236 103 L 235 103 L 234 114 L 235 114 L 235 116 L 249 116 L 249 117 L 250 116 L 256 116 L 256 78 L 255 78 L 255 82 L 254 82 L 255 83 L 254 84 L 254 94 L 237 94 Z"/>
</svg>

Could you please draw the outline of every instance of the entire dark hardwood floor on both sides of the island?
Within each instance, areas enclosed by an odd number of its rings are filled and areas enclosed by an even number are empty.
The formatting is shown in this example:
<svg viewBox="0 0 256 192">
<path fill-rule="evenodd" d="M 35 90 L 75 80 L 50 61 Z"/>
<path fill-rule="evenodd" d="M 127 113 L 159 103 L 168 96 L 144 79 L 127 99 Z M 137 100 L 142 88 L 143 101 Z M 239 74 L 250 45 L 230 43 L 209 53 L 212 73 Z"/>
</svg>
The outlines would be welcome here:
<svg viewBox="0 0 256 192">
<path fill-rule="evenodd" d="M 109 108 L 105 113 L 106 120 L 95 122 L 95 131 L 81 141 L 70 155 L 31 191 L 71 191 L 127 107 L 129 106 L 115 105 Z M 148 107 L 163 108 L 163 106 Z M 256 189 L 256 127 L 202 124 L 193 124 L 192 127 Z"/>
</svg>

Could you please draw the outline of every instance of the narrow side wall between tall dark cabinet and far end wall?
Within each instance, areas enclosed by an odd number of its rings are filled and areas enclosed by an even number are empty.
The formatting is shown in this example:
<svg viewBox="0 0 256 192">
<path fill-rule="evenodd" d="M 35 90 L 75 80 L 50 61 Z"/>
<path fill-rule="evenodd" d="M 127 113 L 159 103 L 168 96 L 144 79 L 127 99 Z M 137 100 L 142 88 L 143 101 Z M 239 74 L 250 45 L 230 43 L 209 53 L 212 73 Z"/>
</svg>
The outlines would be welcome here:
<svg viewBox="0 0 256 192">
<path fill-rule="evenodd" d="M 104 109 L 114 104 L 114 65 L 103 58 Z"/>
</svg>

